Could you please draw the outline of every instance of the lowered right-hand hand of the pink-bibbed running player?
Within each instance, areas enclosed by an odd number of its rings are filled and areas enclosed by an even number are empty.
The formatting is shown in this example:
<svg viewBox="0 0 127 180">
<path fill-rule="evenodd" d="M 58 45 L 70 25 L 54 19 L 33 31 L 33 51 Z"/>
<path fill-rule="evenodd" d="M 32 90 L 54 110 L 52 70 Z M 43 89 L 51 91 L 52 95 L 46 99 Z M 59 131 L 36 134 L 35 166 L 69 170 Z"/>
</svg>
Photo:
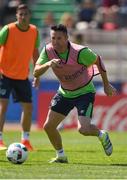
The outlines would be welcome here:
<svg viewBox="0 0 127 180">
<path fill-rule="evenodd" d="M 117 95 L 117 90 L 110 83 L 104 86 L 104 92 L 107 96 Z"/>
</svg>

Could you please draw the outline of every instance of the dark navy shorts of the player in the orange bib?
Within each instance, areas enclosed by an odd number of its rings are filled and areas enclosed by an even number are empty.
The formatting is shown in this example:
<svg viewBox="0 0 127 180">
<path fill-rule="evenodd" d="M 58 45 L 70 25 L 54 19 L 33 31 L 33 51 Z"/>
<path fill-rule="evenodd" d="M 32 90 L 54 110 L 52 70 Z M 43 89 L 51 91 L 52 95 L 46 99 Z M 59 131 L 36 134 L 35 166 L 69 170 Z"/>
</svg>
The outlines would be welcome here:
<svg viewBox="0 0 127 180">
<path fill-rule="evenodd" d="M 4 75 L 0 77 L 0 98 L 9 99 L 12 94 L 14 102 L 32 102 L 31 83 L 26 80 L 15 80 Z"/>
</svg>

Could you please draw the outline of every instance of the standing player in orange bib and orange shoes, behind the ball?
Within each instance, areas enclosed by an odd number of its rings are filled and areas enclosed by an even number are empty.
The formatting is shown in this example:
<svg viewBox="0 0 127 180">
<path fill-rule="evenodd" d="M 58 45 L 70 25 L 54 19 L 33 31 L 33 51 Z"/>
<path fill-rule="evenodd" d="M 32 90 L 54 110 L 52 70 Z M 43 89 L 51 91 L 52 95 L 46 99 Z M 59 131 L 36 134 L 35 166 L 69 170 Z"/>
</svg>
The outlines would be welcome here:
<svg viewBox="0 0 127 180">
<path fill-rule="evenodd" d="M 40 38 L 36 26 L 29 24 L 30 10 L 26 4 L 20 4 L 16 11 L 16 22 L 5 25 L 0 31 L 0 150 L 6 149 L 3 141 L 5 113 L 12 93 L 14 102 L 22 106 L 21 125 L 23 143 L 33 150 L 29 141 L 32 118 L 32 90 L 28 80 L 29 64 L 39 57 Z M 39 83 L 34 78 L 33 86 Z"/>
</svg>

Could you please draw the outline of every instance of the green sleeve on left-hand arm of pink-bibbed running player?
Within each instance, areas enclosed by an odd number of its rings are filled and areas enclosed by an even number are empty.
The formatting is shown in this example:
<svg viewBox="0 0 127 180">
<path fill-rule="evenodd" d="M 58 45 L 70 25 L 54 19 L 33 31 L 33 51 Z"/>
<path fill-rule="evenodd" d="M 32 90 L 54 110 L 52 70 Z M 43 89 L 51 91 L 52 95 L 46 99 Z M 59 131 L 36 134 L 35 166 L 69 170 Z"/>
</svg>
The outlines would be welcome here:
<svg viewBox="0 0 127 180">
<path fill-rule="evenodd" d="M 45 47 L 42 49 L 41 53 L 40 53 L 40 56 L 36 62 L 36 64 L 45 64 L 46 62 L 48 62 L 49 59 L 48 59 L 48 55 L 46 53 L 46 50 L 45 50 Z"/>
</svg>

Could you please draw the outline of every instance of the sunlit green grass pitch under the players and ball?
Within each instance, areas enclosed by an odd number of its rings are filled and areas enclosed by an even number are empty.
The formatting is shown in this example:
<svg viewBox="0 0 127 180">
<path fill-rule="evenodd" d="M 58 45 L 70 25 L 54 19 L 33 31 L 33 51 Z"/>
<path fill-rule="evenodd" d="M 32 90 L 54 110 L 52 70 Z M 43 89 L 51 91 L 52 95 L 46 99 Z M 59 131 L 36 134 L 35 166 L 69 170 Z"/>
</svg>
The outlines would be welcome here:
<svg viewBox="0 0 127 180">
<path fill-rule="evenodd" d="M 31 132 L 31 142 L 37 149 L 29 152 L 21 165 L 8 162 L 5 151 L 0 151 L 0 179 L 127 179 L 127 134 L 110 132 L 114 152 L 107 157 L 96 137 L 84 137 L 76 130 L 60 132 L 68 164 L 49 164 L 55 157 L 44 131 Z M 20 140 L 19 131 L 5 131 L 9 145 Z"/>
</svg>

